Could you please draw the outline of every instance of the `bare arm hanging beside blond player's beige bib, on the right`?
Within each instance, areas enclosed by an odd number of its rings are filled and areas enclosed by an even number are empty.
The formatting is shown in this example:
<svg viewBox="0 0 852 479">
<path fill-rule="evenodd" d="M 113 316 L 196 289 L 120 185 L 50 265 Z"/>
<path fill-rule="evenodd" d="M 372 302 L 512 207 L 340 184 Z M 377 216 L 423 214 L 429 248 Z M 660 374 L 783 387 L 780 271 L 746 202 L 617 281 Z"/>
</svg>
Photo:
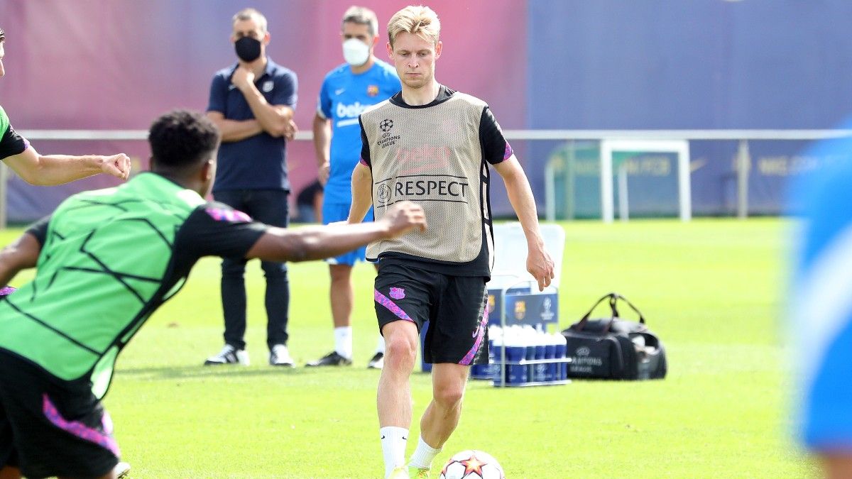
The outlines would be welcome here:
<svg viewBox="0 0 852 479">
<path fill-rule="evenodd" d="M 527 175 L 513 154 L 508 159 L 494 164 L 503 181 L 506 183 L 506 193 L 509 203 L 515 209 L 515 215 L 521 222 L 524 235 L 527 237 L 527 271 L 538 280 L 538 291 L 550 286 L 553 279 L 553 259 L 544 251 L 544 240 L 538 229 L 538 212 L 536 212 L 533 190 L 527 181 Z"/>
</svg>

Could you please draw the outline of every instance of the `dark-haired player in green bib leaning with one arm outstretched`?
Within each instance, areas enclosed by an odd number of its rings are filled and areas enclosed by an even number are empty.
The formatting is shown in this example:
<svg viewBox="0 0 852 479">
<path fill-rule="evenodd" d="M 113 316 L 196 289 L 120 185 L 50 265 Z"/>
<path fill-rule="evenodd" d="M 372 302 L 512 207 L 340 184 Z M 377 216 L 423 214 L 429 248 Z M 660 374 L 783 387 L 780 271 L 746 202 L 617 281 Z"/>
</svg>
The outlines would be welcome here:
<svg viewBox="0 0 852 479">
<path fill-rule="evenodd" d="M 306 261 L 425 228 L 400 204 L 381 221 L 287 230 L 204 200 L 216 126 L 199 113 L 158 118 L 152 171 L 67 199 L 0 251 L 0 477 L 115 477 L 118 444 L 101 407 L 116 357 L 180 289 L 200 257 Z"/>
</svg>

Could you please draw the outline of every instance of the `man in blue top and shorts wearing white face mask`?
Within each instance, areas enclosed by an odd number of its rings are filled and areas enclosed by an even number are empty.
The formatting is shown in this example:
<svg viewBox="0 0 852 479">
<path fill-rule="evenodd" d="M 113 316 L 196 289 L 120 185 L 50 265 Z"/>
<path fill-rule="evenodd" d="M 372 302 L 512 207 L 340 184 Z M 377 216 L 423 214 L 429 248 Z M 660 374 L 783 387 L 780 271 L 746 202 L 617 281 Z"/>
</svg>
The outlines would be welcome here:
<svg viewBox="0 0 852 479">
<path fill-rule="evenodd" d="M 364 7 L 350 7 L 343 14 L 340 33 L 346 63 L 325 75 L 314 117 L 314 147 L 320 182 L 325 184 L 323 223 L 346 220 L 352 204 L 352 170 L 358 164 L 361 136 L 358 115 L 366 108 L 400 91 L 393 66 L 378 60 L 376 14 Z M 367 214 L 366 216 L 372 216 Z M 364 248 L 329 258 L 331 273 L 331 319 L 334 321 L 334 350 L 307 366 L 352 364 L 352 267 L 364 260 Z M 384 339 L 379 335 L 375 355 L 368 367 L 381 369 Z"/>
</svg>

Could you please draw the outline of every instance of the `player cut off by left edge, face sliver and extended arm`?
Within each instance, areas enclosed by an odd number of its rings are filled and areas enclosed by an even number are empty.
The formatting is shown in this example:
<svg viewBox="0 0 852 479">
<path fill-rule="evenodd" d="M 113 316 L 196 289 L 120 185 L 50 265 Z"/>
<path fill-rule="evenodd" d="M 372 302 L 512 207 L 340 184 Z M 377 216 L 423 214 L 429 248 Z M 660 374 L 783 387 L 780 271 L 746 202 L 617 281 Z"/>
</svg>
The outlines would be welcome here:
<svg viewBox="0 0 852 479">
<path fill-rule="evenodd" d="M 5 43 L 6 32 L 0 28 L 0 77 L 6 74 L 3 68 Z M 38 154 L 29 141 L 14 132 L 3 107 L 0 107 L 0 159 L 25 182 L 39 186 L 73 182 L 97 173 L 107 173 L 122 180 L 130 176 L 130 158 L 124 153 L 112 156 Z"/>
</svg>

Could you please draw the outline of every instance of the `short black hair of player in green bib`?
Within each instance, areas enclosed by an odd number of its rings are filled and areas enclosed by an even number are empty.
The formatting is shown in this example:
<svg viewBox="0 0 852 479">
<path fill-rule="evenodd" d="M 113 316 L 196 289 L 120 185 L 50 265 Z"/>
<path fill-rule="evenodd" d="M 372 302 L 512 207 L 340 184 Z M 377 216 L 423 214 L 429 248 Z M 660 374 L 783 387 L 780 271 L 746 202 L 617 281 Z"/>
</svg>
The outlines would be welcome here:
<svg viewBox="0 0 852 479">
<path fill-rule="evenodd" d="M 221 136 L 216 124 L 198 112 L 174 110 L 154 120 L 148 143 L 156 164 L 184 168 L 210 158 Z"/>
</svg>

